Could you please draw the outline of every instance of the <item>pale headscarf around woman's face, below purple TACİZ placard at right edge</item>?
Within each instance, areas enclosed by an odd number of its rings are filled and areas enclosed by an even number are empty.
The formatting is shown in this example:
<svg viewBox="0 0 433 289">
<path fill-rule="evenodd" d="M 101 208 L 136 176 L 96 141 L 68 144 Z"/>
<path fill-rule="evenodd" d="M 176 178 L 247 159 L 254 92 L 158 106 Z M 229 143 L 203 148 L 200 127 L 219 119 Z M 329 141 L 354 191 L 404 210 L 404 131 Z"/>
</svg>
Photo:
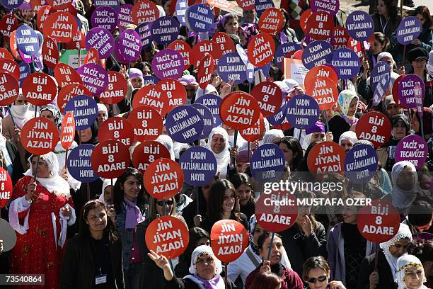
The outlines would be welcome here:
<svg viewBox="0 0 433 289">
<path fill-rule="evenodd" d="M 413 188 L 409 191 L 405 191 L 402 188 L 399 188 L 397 186 L 398 176 L 400 176 L 401 171 L 403 171 L 405 167 L 410 168 L 410 171 L 414 172 L 413 176 L 415 179 L 415 183 Z M 393 191 L 391 191 L 393 205 L 395 205 L 396 208 L 405 210 L 416 198 L 417 187 L 418 187 L 417 169 L 415 169 L 415 166 L 411 162 L 408 161 L 397 162 L 396 164 L 393 165 L 393 169 L 391 171 L 391 177 L 393 181 Z"/>
</svg>

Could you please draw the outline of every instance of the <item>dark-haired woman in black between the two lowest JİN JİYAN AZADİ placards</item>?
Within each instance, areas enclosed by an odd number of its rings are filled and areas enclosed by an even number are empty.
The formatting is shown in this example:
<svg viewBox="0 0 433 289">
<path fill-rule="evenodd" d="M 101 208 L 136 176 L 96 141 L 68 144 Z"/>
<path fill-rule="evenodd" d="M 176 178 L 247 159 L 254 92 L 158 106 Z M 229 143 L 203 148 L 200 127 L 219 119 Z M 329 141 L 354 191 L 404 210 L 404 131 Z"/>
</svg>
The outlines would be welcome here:
<svg viewBox="0 0 433 289">
<path fill-rule="evenodd" d="M 204 231 L 204 229 L 199 227 L 193 227 L 190 229 L 190 242 L 188 242 L 188 246 L 183 252 L 182 256 L 180 256 L 180 262 L 175 266 L 175 276 L 178 278 L 183 278 L 187 276 L 190 271 L 190 263 L 191 263 L 191 254 L 197 246 L 210 246 L 210 237 L 209 234 Z"/>
</svg>

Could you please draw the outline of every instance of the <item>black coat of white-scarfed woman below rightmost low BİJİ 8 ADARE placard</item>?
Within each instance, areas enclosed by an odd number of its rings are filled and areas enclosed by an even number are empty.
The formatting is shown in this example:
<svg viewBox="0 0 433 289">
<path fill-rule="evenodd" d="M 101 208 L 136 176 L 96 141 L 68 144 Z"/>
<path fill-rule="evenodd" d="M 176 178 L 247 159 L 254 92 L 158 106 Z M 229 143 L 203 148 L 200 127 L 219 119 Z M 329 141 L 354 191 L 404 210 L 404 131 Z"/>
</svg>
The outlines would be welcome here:
<svg viewBox="0 0 433 289">
<path fill-rule="evenodd" d="M 374 271 L 374 262 L 376 253 L 366 256 L 359 267 L 359 279 L 357 289 L 368 289 L 370 284 L 370 274 Z M 379 273 L 379 284 L 376 289 L 394 289 L 397 284 L 394 283 L 391 267 L 386 261 L 385 254 L 379 249 L 379 259 L 377 261 L 377 272 Z"/>
</svg>

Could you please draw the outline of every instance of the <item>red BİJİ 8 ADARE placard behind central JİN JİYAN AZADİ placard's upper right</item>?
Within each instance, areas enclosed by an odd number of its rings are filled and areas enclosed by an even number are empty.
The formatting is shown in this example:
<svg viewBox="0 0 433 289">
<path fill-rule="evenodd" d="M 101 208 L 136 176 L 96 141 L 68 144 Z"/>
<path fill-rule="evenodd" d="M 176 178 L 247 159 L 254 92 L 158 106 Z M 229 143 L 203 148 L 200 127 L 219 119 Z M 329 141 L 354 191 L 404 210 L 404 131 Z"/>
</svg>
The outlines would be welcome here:
<svg viewBox="0 0 433 289">
<path fill-rule="evenodd" d="M 278 113 L 282 105 L 282 91 L 272 81 L 263 81 L 254 86 L 251 95 L 257 100 L 265 118 Z"/>
</svg>

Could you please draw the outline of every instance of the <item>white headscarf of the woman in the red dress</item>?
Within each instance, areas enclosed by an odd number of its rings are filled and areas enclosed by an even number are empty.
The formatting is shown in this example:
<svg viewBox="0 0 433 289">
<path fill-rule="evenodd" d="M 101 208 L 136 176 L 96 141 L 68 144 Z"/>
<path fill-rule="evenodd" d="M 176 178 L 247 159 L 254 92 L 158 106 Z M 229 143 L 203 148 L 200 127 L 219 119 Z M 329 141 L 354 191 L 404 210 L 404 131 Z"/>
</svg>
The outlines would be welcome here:
<svg viewBox="0 0 433 289">
<path fill-rule="evenodd" d="M 24 176 L 33 176 L 31 169 L 32 157 L 28 159 L 30 163 L 30 169 L 25 172 Z M 47 154 L 43 154 L 40 156 L 40 158 L 47 162 L 48 170 L 50 170 L 50 178 L 36 178 L 36 180 L 50 193 L 54 193 L 57 196 L 64 195 L 65 198 L 68 199 L 70 197 L 69 183 L 59 176 L 59 162 L 57 161 L 56 154 L 54 154 L 54 152 L 49 152 Z"/>
</svg>

